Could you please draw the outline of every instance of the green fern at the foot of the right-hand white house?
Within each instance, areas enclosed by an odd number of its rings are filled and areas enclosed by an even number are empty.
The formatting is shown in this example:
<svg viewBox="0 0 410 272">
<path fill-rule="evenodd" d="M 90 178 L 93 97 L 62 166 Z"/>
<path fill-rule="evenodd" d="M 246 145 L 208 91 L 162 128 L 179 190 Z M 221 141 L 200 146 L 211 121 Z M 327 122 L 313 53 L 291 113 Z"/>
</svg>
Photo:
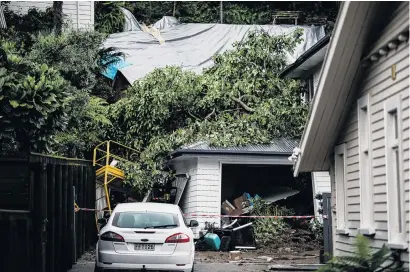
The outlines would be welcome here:
<svg viewBox="0 0 410 272">
<path fill-rule="evenodd" d="M 334 257 L 318 271 L 404 272 L 408 271 L 408 268 L 403 267 L 399 252 L 390 251 L 386 245 L 372 251 L 369 240 L 363 235 L 359 235 L 356 238 L 353 255 Z"/>
</svg>

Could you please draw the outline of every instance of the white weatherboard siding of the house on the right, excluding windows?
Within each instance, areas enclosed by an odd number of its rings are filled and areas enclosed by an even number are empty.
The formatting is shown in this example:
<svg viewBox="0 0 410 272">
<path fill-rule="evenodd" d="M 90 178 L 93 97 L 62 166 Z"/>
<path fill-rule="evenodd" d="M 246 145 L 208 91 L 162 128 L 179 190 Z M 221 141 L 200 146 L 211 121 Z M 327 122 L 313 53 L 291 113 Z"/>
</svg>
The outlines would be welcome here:
<svg viewBox="0 0 410 272">
<path fill-rule="evenodd" d="M 377 44 L 385 44 L 387 36 L 392 35 L 398 28 L 401 21 L 409 20 L 409 3 L 396 11 L 393 19 L 387 28 L 380 34 Z M 389 35 L 385 35 L 388 33 Z M 396 65 L 396 79 L 393 80 L 392 65 Z M 335 255 L 352 252 L 354 236 L 358 234 L 360 227 L 360 168 L 359 168 L 359 147 L 358 147 L 358 120 L 357 120 L 357 99 L 369 94 L 370 106 L 370 182 L 373 187 L 372 207 L 373 207 L 373 227 L 375 236 L 371 238 L 372 246 L 380 248 L 388 240 L 388 199 L 386 187 L 386 146 L 385 136 L 390 133 L 385 130 L 384 102 L 399 95 L 401 105 L 398 108 L 401 112 L 401 145 L 402 158 L 404 161 L 402 178 L 404 179 L 405 197 L 405 228 L 406 242 L 409 243 L 409 44 L 408 41 L 402 43 L 397 49 L 391 50 L 386 56 L 374 62 L 371 67 L 366 68 L 361 84 L 356 90 L 356 99 L 350 107 L 350 113 L 339 135 L 336 145 L 346 143 L 346 174 L 347 174 L 347 219 L 349 235 L 335 235 L 334 249 Z M 334 184 L 334 161 L 331 166 L 333 203 L 335 202 Z M 390 181 L 389 181 L 390 182 Z M 336 220 L 336 216 L 333 216 Z M 333 222 L 333 226 L 336 226 Z M 335 232 L 334 232 L 335 233 Z M 402 254 L 402 259 L 409 262 L 409 254 Z"/>
</svg>

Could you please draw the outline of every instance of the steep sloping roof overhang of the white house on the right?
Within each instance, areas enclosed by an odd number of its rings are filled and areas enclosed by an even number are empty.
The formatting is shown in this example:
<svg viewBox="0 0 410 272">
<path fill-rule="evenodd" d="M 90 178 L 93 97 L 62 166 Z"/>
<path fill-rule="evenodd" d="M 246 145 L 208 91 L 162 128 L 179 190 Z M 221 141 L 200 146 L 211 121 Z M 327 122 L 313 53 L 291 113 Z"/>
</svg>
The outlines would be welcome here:
<svg viewBox="0 0 410 272">
<path fill-rule="evenodd" d="M 329 155 L 360 79 L 362 52 L 378 2 L 342 3 L 296 162 L 299 172 L 329 170 Z"/>
</svg>

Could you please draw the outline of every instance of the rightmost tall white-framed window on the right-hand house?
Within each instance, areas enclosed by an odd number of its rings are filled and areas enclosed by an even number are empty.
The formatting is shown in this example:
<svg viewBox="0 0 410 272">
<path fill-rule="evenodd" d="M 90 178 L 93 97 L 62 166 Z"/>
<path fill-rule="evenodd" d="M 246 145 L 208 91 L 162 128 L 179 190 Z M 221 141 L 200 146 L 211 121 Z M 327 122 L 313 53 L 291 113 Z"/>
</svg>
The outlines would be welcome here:
<svg viewBox="0 0 410 272">
<path fill-rule="evenodd" d="M 395 96 L 384 104 L 388 244 L 395 248 L 405 247 L 406 241 L 400 101 L 400 96 Z"/>
</svg>

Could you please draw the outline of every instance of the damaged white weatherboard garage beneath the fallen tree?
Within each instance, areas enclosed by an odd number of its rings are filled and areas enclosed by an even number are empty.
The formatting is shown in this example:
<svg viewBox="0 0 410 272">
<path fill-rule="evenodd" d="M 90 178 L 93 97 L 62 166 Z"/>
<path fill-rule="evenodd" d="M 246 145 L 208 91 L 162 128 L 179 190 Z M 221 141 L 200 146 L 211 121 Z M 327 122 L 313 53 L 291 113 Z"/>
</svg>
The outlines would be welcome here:
<svg viewBox="0 0 410 272">
<path fill-rule="evenodd" d="M 176 204 L 187 214 L 187 221 L 199 222 L 195 231 L 197 237 L 207 224 L 221 226 L 221 219 L 195 214 L 220 215 L 225 200 L 232 201 L 244 192 L 272 201 L 302 196 L 310 202 L 311 207 L 307 208 L 313 212 L 312 191 L 291 189 L 296 179 L 289 157 L 297 145 L 297 141 L 289 139 L 231 148 L 197 142 L 172 152 L 168 165 L 177 176 L 174 183 L 178 187 Z"/>
</svg>

